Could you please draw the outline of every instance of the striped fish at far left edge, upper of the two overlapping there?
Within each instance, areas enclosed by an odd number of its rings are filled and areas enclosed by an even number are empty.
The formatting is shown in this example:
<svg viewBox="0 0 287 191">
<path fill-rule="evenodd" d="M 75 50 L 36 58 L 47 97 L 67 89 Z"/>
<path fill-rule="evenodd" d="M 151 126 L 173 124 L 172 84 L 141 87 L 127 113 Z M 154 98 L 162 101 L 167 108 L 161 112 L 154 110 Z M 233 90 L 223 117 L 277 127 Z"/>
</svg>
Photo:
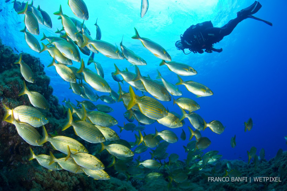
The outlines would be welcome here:
<svg viewBox="0 0 287 191">
<path fill-rule="evenodd" d="M 10 110 L 4 103 L 2 103 L 2 105 L 4 106 L 3 109 L 5 111 L 3 120 L 5 120 L 12 114 L 12 110 Z M 47 117 L 45 117 L 45 115 L 35 107 L 18 106 L 13 109 L 13 113 L 14 118 L 17 121 L 30 124 L 33 127 L 41 127 L 42 125 L 49 123 Z"/>
</svg>

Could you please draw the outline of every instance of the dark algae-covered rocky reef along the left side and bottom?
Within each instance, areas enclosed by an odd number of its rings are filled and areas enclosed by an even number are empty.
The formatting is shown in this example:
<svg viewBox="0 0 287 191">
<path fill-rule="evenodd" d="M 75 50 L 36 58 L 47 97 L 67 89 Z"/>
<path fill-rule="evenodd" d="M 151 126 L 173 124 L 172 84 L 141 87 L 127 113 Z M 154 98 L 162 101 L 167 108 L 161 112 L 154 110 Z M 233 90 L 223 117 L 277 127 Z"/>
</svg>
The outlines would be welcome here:
<svg viewBox="0 0 287 191">
<path fill-rule="evenodd" d="M 207 164 L 205 168 L 188 175 L 185 183 L 172 182 L 168 178 L 145 182 L 142 179 L 129 178 L 122 172 L 117 172 L 114 167 L 106 168 L 111 175 L 110 180 L 93 180 L 85 174 L 73 174 L 68 171 L 48 171 L 37 164 L 36 160 L 28 161 L 29 146 L 18 134 L 13 124 L 2 121 L 4 110 L 2 103 L 9 108 L 20 105 L 31 106 L 27 95 L 18 96 L 23 86 L 23 77 L 20 66 L 13 64 L 18 59 L 18 54 L 2 44 L 0 40 L 0 191 L 2 190 L 287 190 L 287 152 L 278 158 L 269 161 L 259 160 L 256 164 L 247 164 L 242 160 L 230 161 L 233 168 L 238 170 L 240 177 L 280 177 L 281 182 L 211 182 L 208 177 L 223 177 L 227 160 L 220 160 L 216 164 Z M 95 151 L 97 148 L 88 142 L 83 142 L 70 128 L 61 132 L 61 124 L 66 120 L 63 108 L 56 96 L 53 96 L 53 88 L 49 86 L 50 78 L 45 75 L 44 65 L 40 59 L 26 53 L 22 53 L 22 60 L 31 68 L 35 76 L 35 83 L 26 83 L 27 88 L 41 93 L 48 101 L 50 110 L 45 113 L 49 123 L 45 125 L 47 132 L 72 137 L 82 142 L 86 148 Z M 42 129 L 38 128 L 40 134 Z M 49 154 L 53 151 L 49 143 L 43 146 L 31 146 L 35 154 Z M 92 151 L 92 152 L 93 152 Z M 91 152 L 91 153 L 92 153 Z M 59 157 L 63 157 L 62 155 Z M 96 154 L 104 164 L 111 162 L 110 155 L 104 151 Z M 163 161 L 162 161 L 163 162 Z M 127 166 L 136 165 L 135 162 Z M 164 170 L 162 170 L 164 172 Z"/>
</svg>

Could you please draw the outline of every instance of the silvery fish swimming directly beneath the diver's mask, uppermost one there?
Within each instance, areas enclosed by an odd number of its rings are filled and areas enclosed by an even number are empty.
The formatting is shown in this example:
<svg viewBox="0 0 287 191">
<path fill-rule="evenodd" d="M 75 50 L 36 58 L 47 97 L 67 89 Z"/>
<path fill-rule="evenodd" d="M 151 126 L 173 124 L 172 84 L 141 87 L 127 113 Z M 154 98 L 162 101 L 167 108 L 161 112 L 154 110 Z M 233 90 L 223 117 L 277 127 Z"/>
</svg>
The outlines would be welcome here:
<svg viewBox="0 0 287 191">
<path fill-rule="evenodd" d="M 197 74 L 197 71 L 187 64 L 179 62 L 165 62 L 164 60 L 162 60 L 159 66 L 162 65 L 166 65 L 169 70 L 181 76 L 193 76 Z"/>
</svg>

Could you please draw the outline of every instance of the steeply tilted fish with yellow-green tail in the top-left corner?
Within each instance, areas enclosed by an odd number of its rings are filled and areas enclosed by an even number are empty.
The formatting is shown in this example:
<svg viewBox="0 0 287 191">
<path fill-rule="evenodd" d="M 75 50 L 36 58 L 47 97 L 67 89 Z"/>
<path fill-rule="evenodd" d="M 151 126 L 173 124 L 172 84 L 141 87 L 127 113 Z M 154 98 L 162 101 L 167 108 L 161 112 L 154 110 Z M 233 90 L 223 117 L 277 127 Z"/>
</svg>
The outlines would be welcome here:
<svg viewBox="0 0 287 191">
<path fill-rule="evenodd" d="M 27 9 L 28 9 L 28 2 L 26 3 L 25 8 L 22 11 L 18 12 L 18 15 L 25 14 L 24 23 L 25 23 L 25 26 L 27 27 L 27 30 L 31 34 L 39 35 L 38 20 L 35 17 L 35 15 L 32 12 L 27 11 Z"/>
</svg>

